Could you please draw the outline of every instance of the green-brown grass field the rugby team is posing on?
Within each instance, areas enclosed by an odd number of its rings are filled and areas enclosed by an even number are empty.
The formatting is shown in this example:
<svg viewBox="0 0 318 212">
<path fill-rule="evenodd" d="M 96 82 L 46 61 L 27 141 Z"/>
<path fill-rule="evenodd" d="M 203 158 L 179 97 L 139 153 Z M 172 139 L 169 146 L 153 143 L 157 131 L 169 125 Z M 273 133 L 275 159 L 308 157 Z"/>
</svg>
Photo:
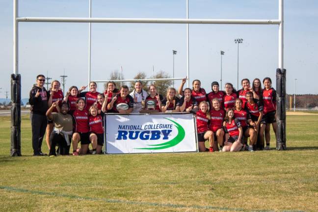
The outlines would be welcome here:
<svg viewBox="0 0 318 212">
<path fill-rule="evenodd" d="M 314 212 L 317 138 L 317 115 L 288 116 L 288 151 L 31 157 L 23 116 L 24 157 L 12 158 L 0 117 L 0 211 Z"/>
</svg>

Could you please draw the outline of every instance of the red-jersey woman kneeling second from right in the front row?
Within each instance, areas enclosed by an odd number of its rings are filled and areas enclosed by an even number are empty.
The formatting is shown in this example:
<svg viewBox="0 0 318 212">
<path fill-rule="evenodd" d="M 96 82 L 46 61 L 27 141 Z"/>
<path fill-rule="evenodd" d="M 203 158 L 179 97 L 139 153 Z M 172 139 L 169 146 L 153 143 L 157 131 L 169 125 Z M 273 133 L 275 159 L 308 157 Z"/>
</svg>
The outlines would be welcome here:
<svg viewBox="0 0 318 212">
<path fill-rule="evenodd" d="M 243 136 L 246 138 L 245 140 L 246 143 L 247 143 L 247 138 L 248 137 L 250 138 L 248 151 L 253 151 L 253 145 L 256 144 L 256 139 L 257 139 L 256 133 L 254 131 L 255 123 L 252 121 L 250 113 L 242 108 L 242 104 L 243 102 L 241 99 L 236 99 L 235 101 L 236 109 L 234 110 L 234 117 L 238 119 L 239 123 L 242 126 Z"/>
</svg>

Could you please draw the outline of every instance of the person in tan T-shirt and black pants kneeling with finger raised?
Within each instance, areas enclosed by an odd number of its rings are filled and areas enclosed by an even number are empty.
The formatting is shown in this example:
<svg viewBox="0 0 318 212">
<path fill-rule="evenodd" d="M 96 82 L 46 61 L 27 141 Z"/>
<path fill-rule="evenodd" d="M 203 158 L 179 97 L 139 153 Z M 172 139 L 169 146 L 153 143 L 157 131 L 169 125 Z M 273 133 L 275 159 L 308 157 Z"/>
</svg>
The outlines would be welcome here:
<svg viewBox="0 0 318 212">
<path fill-rule="evenodd" d="M 66 102 L 63 102 L 61 108 L 57 109 L 60 112 L 52 112 L 54 108 L 58 108 L 58 102 L 54 102 L 46 112 L 47 117 L 54 123 L 54 129 L 50 135 L 51 149 L 49 156 L 56 156 L 56 144 L 59 146 L 60 155 L 68 155 L 70 152 L 73 118 L 68 114 L 69 105 Z"/>
</svg>

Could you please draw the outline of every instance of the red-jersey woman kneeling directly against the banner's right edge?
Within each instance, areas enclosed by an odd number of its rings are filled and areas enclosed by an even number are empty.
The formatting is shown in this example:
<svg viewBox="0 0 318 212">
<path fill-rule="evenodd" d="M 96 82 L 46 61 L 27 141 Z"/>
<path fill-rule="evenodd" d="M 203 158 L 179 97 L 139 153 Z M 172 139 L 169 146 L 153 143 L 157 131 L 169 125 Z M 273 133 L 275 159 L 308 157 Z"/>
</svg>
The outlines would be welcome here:
<svg viewBox="0 0 318 212">
<path fill-rule="evenodd" d="M 209 131 L 208 123 L 210 119 L 209 105 L 206 101 L 202 101 L 199 104 L 199 110 L 196 112 L 196 124 L 198 134 L 198 146 L 200 152 L 205 152 L 205 141 L 209 139 L 210 152 L 213 152 L 214 135 L 212 131 Z"/>
</svg>

